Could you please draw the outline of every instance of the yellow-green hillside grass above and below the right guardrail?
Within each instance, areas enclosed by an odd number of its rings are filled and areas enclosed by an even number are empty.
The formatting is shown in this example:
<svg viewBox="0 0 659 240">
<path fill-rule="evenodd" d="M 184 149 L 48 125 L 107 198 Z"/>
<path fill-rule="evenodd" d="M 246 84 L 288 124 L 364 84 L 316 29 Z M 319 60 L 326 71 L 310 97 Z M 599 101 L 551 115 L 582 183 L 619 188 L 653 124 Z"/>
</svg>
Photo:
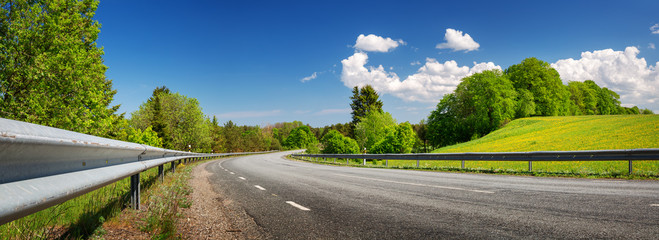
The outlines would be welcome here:
<svg viewBox="0 0 659 240">
<path fill-rule="evenodd" d="M 659 148 L 659 115 L 532 117 L 508 123 L 480 139 L 447 146 L 434 153 L 531 152 Z M 333 164 L 328 160 L 328 164 Z M 361 159 L 350 160 L 360 166 Z M 345 159 L 337 164 L 346 164 Z M 626 179 L 659 179 L 659 161 L 420 161 L 389 160 L 389 168 L 433 171 L 502 173 L 533 176 L 566 176 Z M 367 167 L 385 167 L 385 160 L 367 161 Z"/>
</svg>

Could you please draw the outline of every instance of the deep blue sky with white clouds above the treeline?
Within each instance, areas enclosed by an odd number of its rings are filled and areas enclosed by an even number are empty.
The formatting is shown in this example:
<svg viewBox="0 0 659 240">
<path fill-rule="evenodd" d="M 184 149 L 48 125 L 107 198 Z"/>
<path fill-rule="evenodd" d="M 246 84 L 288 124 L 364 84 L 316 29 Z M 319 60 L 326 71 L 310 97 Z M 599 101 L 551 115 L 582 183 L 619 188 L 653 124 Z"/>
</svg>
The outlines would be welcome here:
<svg viewBox="0 0 659 240">
<path fill-rule="evenodd" d="M 462 2 L 112 0 L 95 19 L 128 116 L 166 85 L 220 122 L 321 127 L 349 122 L 350 86 L 372 84 L 418 123 L 465 74 L 527 57 L 659 112 L 658 1 Z"/>
</svg>

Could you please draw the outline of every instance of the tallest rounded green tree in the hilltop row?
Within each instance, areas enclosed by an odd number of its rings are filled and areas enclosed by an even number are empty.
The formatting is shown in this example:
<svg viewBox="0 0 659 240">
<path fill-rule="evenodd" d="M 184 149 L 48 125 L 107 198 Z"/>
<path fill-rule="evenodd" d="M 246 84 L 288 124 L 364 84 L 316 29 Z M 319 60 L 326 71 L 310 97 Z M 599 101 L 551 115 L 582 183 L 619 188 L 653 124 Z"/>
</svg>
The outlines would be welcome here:
<svg viewBox="0 0 659 240">
<path fill-rule="evenodd" d="M 525 92 L 521 95 L 524 99 L 533 99 L 535 110 L 525 111 L 524 115 L 534 112 L 539 116 L 568 115 L 566 107 L 569 97 L 558 72 L 549 63 L 536 58 L 524 59 L 520 64 L 512 65 L 506 69 L 505 74 L 512 81 L 517 92 L 528 90 L 532 94 L 527 96 Z M 528 103 L 524 103 L 528 107 Z"/>
</svg>

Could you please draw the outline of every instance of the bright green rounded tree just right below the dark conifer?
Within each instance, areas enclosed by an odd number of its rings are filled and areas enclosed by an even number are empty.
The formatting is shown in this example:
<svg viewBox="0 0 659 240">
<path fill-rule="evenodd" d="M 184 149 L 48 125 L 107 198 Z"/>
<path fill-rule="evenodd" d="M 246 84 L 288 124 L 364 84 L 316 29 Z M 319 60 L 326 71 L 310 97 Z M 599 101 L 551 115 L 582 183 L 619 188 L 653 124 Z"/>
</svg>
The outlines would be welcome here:
<svg viewBox="0 0 659 240">
<path fill-rule="evenodd" d="M 396 120 L 388 112 L 370 111 L 355 127 L 355 138 L 360 148 L 371 149 L 375 143 L 387 136 L 387 131 L 396 126 Z"/>
</svg>

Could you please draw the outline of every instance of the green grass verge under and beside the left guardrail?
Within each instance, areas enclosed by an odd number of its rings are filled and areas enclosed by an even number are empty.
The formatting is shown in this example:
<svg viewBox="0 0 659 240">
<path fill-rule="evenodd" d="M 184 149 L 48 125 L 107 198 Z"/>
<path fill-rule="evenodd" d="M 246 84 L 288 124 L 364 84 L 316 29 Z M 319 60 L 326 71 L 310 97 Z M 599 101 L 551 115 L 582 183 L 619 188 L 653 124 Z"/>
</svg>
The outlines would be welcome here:
<svg viewBox="0 0 659 240">
<path fill-rule="evenodd" d="M 178 208 L 191 204 L 185 198 L 191 192 L 187 185 L 191 168 L 179 165 L 172 175 L 170 166 L 165 164 L 164 184 L 156 184 L 158 168 L 140 174 L 141 200 L 147 209 L 143 229 L 152 233 L 154 239 L 171 238 L 171 230 L 175 230 L 171 222 L 175 221 Z M 0 226 L 0 239 L 103 238 L 106 231 L 102 226 L 106 220 L 122 214 L 129 204 L 130 177 L 4 224 Z"/>
</svg>

